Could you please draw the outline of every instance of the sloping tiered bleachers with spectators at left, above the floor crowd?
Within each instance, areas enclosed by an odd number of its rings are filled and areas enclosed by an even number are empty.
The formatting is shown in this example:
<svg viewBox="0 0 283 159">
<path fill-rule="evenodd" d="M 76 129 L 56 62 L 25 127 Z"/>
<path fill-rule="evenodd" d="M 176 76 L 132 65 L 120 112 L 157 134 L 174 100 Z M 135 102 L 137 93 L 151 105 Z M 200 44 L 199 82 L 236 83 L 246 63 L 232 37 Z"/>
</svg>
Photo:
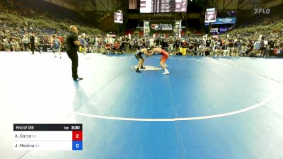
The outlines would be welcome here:
<svg viewBox="0 0 283 159">
<path fill-rule="evenodd" d="M 54 33 L 66 35 L 69 25 L 79 26 L 84 33 L 101 33 L 88 24 L 88 20 L 82 18 L 79 13 L 46 1 L 0 1 L 0 35 L 2 36 L 10 33 L 16 35 L 36 33 L 39 36 Z"/>
</svg>

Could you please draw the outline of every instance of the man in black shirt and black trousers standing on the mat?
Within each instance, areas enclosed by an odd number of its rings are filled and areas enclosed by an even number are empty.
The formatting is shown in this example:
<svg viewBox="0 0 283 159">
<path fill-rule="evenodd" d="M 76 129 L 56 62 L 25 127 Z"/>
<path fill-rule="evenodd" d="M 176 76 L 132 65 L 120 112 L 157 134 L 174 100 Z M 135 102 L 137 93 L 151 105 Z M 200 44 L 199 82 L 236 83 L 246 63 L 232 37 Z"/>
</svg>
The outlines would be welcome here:
<svg viewBox="0 0 283 159">
<path fill-rule="evenodd" d="M 75 25 L 70 26 L 70 33 L 67 35 L 66 47 L 68 57 L 71 59 L 71 73 L 73 74 L 74 81 L 80 81 L 83 78 L 78 77 L 78 51 L 81 42 L 78 39 L 78 28 Z"/>
</svg>

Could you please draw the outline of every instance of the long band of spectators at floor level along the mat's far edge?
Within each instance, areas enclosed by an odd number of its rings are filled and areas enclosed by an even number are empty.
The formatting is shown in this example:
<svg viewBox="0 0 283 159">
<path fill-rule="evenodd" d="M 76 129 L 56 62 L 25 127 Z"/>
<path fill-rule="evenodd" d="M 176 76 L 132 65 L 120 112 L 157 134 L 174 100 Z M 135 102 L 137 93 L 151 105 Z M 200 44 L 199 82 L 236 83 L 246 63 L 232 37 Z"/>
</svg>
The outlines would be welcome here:
<svg viewBox="0 0 283 159">
<path fill-rule="evenodd" d="M 0 37 L 0 50 L 27 51 L 30 45 L 30 37 L 25 34 L 21 36 Z M 64 49 L 64 35 L 58 36 L 61 42 L 61 49 Z M 141 47 L 162 47 L 170 54 L 183 54 L 190 56 L 244 56 L 244 57 L 265 57 L 267 49 L 275 50 L 278 55 L 282 54 L 283 42 L 281 33 L 262 32 L 255 34 L 236 35 L 214 35 L 190 36 L 190 37 L 132 37 L 110 35 L 79 35 L 81 49 L 86 52 L 101 52 L 103 54 L 136 52 Z M 42 45 L 52 45 L 52 35 L 35 35 L 35 45 L 42 49 Z"/>
</svg>

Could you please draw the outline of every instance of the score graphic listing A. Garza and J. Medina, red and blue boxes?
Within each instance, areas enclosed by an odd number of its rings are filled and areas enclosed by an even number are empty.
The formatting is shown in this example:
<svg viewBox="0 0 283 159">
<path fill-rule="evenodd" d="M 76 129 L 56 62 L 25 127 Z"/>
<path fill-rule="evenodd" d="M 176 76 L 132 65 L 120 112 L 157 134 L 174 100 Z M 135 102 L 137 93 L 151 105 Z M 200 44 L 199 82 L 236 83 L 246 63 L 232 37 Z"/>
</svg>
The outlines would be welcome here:
<svg viewBox="0 0 283 159">
<path fill-rule="evenodd" d="M 13 124 L 13 149 L 81 151 L 83 124 Z"/>
</svg>

